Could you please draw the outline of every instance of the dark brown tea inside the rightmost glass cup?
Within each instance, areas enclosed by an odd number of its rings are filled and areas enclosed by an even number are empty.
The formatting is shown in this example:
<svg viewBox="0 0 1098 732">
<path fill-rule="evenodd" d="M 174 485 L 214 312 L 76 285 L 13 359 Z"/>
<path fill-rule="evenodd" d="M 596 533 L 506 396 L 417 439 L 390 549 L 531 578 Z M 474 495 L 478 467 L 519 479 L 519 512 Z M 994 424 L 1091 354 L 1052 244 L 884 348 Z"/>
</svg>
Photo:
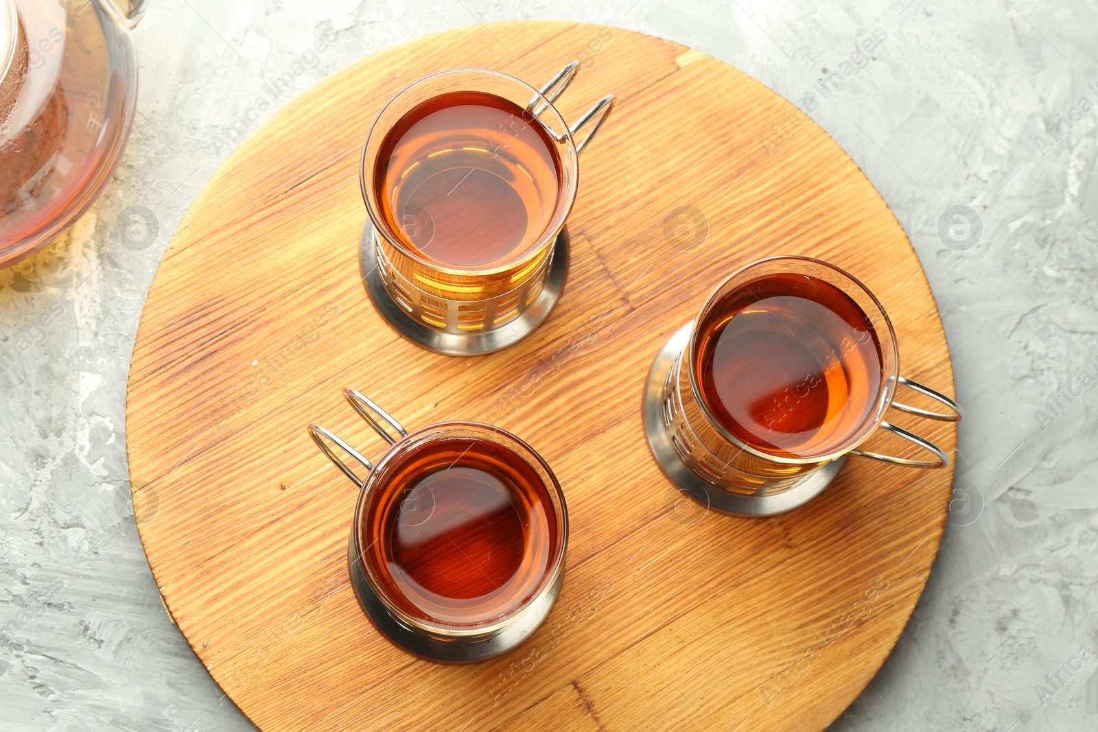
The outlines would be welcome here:
<svg viewBox="0 0 1098 732">
<path fill-rule="evenodd" d="M 760 277 L 703 317 L 695 373 L 705 405 L 771 454 L 829 454 L 864 424 L 882 384 L 881 345 L 862 308 L 805 274 Z"/>
</svg>

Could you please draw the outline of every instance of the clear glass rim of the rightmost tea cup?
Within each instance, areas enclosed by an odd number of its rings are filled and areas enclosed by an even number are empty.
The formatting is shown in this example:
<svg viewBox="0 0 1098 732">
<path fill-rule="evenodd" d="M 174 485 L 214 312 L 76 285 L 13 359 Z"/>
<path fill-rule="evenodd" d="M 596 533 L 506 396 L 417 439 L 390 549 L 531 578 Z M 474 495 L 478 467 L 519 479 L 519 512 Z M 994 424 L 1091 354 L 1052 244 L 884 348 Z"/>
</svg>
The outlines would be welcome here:
<svg viewBox="0 0 1098 732">
<path fill-rule="evenodd" d="M 705 399 L 702 397 L 702 391 L 698 385 L 701 380 L 698 378 L 698 373 L 695 367 L 696 363 L 695 356 L 697 352 L 698 325 L 701 324 L 703 316 L 705 316 L 707 314 L 707 311 L 716 303 L 718 296 L 721 294 L 721 291 L 725 290 L 725 288 L 728 285 L 729 282 L 732 282 L 733 280 L 739 278 L 743 278 L 744 274 L 748 274 L 749 271 L 752 269 L 778 261 L 791 262 L 792 266 L 788 271 L 796 271 L 796 268 L 798 266 L 804 266 L 804 264 L 816 264 L 820 267 L 826 267 L 836 272 L 837 274 L 839 274 L 839 277 L 842 278 L 843 280 L 848 281 L 855 288 L 860 289 L 863 293 L 865 293 L 865 295 L 877 308 L 881 319 L 884 322 L 884 325 L 886 326 L 884 330 L 888 335 L 888 341 L 892 346 L 890 348 L 887 349 L 888 353 L 892 356 L 892 368 L 887 369 L 887 372 L 882 373 L 881 387 L 877 392 L 876 397 L 874 398 L 874 401 L 877 403 L 876 408 L 870 414 L 870 416 L 866 416 L 866 418 L 862 420 L 862 423 L 858 426 L 856 429 L 851 430 L 850 436 L 842 441 L 842 444 L 838 449 L 819 455 L 814 454 L 808 457 L 794 458 L 789 455 L 774 454 L 772 452 L 766 452 L 765 450 L 760 450 L 759 448 L 748 444 L 743 440 L 732 435 L 722 424 L 720 424 L 720 420 L 716 418 L 716 416 L 706 405 Z M 874 330 L 879 331 L 881 328 L 877 325 L 876 318 L 872 317 L 869 313 L 865 313 L 861 304 L 858 304 L 858 306 L 859 309 L 861 309 L 863 314 L 866 316 Z M 883 339 L 881 338 L 877 339 L 877 342 L 881 345 L 881 351 L 882 351 L 881 364 L 882 369 L 884 370 L 885 364 L 888 362 L 888 358 L 885 352 L 886 346 L 882 341 Z M 773 257 L 764 257 L 762 259 L 757 259 L 754 261 L 744 264 L 743 267 L 740 267 L 739 269 L 730 273 L 728 277 L 726 277 L 724 280 L 721 280 L 717 284 L 717 286 L 713 289 L 709 295 L 705 299 L 705 302 L 702 304 L 702 307 L 698 309 L 697 315 L 694 318 L 694 323 L 691 327 L 690 340 L 687 340 L 686 348 L 683 349 L 683 353 L 680 358 L 685 358 L 687 362 L 686 368 L 688 369 L 688 375 L 690 375 L 688 381 L 691 385 L 691 391 L 693 392 L 694 395 L 694 401 L 697 403 L 698 408 L 702 410 L 702 415 L 709 421 L 709 424 L 714 427 L 714 429 L 717 430 L 718 435 L 720 435 L 724 439 L 735 444 L 737 448 L 741 449 L 743 452 L 747 452 L 751 455 L 777 463 L 792 464 L 792 465 L 808 465 L 808 464 L 822 463 L 822 462 L 828 462 L 830 460 L 834 460 L 836 458 L 847 454 L 851 450 L 855 449 L 859 444 L 864 442 L 866 439 L 869 439 L 870 435 L 873 433 L 873 431 L 884 419 L 885 413 L 892 405 L 893 396 L 896 392 L 896 381 L 899 378 L 899 349 L 896 345 L 896 330 L 893 327 L 892 319 L 888 317 L 888 312 L 885 309 L 884 304 L 882 304 L 882 302 L 877 299 L 877 296 L 873 294 L 872 290 L 865 286 L 865 283 L 863 283 L 856 277 L 854 277 L 847 270 L 842 269 L 838 264 L 832 264 L 829 261 L 826 261 L 824 259 L 817 259 L 816 257 L 806 257 L 802 255 L 777 255 Z M 682 368 L 681 363 L 680 368 Z"/>
</svg>

